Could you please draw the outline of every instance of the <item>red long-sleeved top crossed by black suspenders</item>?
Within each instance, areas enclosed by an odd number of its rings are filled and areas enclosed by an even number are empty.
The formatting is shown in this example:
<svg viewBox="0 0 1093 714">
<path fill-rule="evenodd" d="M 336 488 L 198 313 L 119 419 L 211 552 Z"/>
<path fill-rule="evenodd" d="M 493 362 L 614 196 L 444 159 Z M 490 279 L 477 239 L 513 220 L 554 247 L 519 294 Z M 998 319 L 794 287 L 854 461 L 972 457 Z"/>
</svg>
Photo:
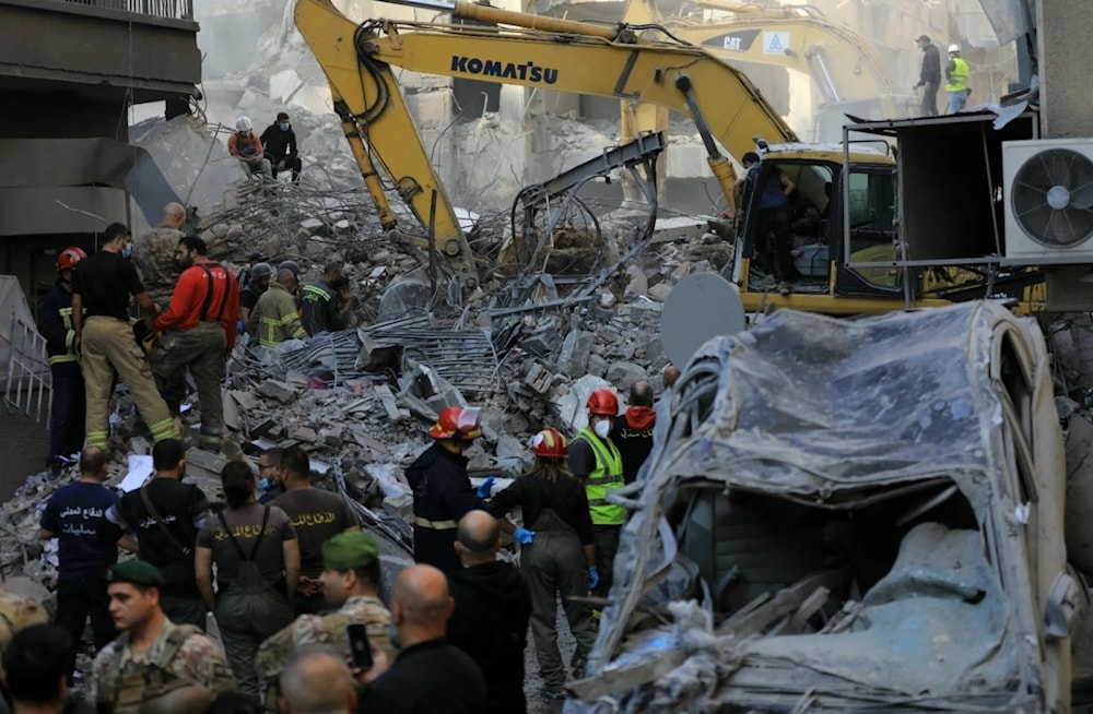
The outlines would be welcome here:
<svg viewBox="0 0 1093 714">
<path fill-rule="evenodd" d="M 208 269 L 208 272 L 207 272 Z M 210 277 L 212 299 L 205 308 Z M 227 348 L 235 346 L 235 323 L 239 319 L 239 284 L 232 272 L 212 261 L 195 263 L 183 271 L 175 284 L 171 305 L 152 320 L 152 330 L 192 330 L 201 320 L 219 322 L 227 336 Z"/>
</svg>

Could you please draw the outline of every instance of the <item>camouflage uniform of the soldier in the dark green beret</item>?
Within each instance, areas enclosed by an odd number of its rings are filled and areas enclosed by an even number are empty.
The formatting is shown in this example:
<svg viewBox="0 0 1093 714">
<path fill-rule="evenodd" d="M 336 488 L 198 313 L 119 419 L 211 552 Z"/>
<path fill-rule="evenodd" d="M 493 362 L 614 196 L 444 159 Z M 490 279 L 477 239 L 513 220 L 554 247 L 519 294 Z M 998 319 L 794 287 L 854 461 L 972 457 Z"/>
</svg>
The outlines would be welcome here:
<svg viewBox="0 0 1093 714">
<path fill-rule="evenodd" d="M 106 704 L 114 714 L 137 714 L 152 690 L 169 689 L 178 680 L 213 694 L 235 689 L 221 648 L 192 624 L 167 620 L 152 646 L 140 655 L 129 648 L 128 632 L 103 647 L 92 665 L 87 700 Z"/>
</svg>

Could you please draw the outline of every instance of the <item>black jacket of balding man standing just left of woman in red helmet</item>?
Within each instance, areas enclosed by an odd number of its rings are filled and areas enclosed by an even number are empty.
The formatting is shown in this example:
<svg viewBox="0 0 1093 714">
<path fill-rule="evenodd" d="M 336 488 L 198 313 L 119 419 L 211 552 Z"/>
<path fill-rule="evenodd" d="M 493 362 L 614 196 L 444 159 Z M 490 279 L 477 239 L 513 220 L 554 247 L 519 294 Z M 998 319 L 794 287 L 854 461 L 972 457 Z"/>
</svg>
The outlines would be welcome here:
<svg viewBox="0 0 1093 714">
<path fill-rule="evenodd" d="M 520 571 L 507 562 L 463 568 L 448 575 L 456 610 L 448 620 L 448 642 L 471 656 L 485 675 L 492 714 L 527 711 L 524 699 L 524 648 L 531 595 Z"/>
</svg>

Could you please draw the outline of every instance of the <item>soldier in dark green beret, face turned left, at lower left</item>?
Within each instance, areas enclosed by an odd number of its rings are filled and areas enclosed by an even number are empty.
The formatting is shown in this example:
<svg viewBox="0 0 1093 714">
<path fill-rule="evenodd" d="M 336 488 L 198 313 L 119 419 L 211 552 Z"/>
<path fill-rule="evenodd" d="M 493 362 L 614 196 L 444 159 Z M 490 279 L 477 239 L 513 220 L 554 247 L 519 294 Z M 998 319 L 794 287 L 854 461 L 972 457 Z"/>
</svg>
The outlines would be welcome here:
<svg viewBox="0 0 1093 714">
<path fill-rule="evenodd" d="M 110 615 L 121 634 L 92 665 L 87 700 L 114 714 L 202 714 L 235 687 L 221 648 L 160 608 L 163 574 L 142 560 L 110 568 Z"/>
</svg>

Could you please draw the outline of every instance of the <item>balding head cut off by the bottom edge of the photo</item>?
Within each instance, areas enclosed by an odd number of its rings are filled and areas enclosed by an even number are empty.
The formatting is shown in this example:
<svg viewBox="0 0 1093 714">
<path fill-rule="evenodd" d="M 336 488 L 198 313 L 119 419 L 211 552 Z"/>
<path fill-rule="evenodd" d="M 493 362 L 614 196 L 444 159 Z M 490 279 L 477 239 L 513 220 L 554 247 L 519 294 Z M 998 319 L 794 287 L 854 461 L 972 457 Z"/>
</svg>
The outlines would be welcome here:
<svg viewBox="0 0 1093 714">
<path fill-rule="evenodd" d="M 356 687 L 345 658 L 333 648 L 309 644 L 297 648 L 279 680 L 281 714 L 352 714 Z"/>
</svg>

